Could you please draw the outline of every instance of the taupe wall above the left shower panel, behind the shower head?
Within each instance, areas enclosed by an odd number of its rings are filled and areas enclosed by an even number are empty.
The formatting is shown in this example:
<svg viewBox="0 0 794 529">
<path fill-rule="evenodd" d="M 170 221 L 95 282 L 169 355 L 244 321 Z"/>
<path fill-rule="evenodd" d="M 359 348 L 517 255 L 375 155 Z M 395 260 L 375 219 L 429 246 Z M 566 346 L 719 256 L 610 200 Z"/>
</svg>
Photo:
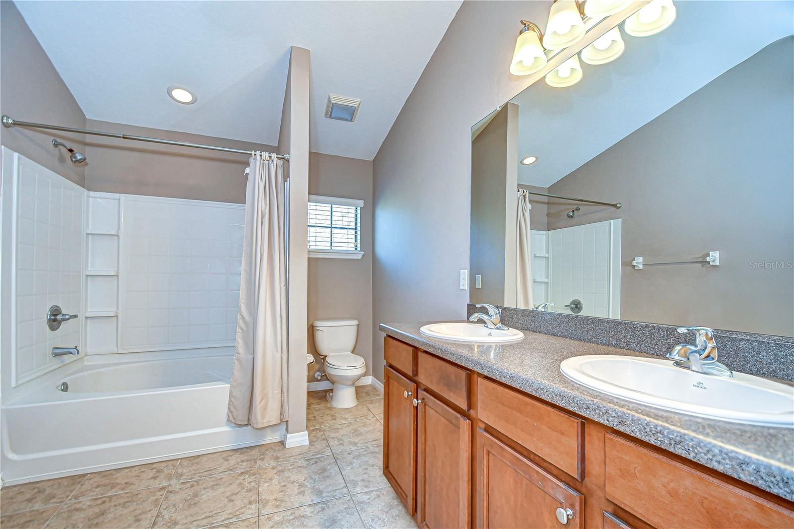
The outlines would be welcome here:
<svg viewBox="0 0 794 529">
<path fill-rule="evenodd" d="M 0 112 L 24 122 L 86 126 L 86 115 L 13 2 L 0 2 Z M 0 127 L 2 145 L 84 186 L 86 169 L 72 164 L 63 147 L 52 147 L 52 138 L 84 152 L 85 134 Z"/>
</svg>

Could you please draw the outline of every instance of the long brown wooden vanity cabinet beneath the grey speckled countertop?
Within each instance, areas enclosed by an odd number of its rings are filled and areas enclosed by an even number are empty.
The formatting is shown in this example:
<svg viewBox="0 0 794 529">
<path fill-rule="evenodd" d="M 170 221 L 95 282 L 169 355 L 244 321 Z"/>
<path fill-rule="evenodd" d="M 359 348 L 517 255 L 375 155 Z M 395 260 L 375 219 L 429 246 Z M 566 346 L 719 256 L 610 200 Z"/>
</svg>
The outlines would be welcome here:
<svg viewBox="0 0 794 529">
<path fill-rule="evenodd" d="M 790 501 L 385 340 L 384 475 L 419 527 L 794 529 Z"/>
</svg>

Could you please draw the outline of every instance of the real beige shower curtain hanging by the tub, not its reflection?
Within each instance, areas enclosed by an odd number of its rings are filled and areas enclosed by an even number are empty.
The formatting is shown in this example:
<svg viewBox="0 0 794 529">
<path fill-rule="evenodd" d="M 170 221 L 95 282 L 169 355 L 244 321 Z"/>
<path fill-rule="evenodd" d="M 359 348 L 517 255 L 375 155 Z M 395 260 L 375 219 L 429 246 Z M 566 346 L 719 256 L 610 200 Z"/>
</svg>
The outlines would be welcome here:
<svg viewBox="0 0 794 529">
<path fill-rule="evenodd" d="M 252 153 L 227 416 L 232 423 L 257 428 L 287 418 L 284 206 L 283 161 Z"/>
</svg>

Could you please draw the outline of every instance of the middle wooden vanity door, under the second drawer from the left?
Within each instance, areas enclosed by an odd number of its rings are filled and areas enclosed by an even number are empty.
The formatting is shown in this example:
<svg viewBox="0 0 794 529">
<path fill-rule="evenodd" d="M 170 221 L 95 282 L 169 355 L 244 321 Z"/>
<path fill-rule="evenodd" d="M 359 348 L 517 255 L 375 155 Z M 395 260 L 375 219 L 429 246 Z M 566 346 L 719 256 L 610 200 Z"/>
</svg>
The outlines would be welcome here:
<svg viewBox="0 0 794 529">
<path fill-rule="evenodd" d="M 472 422 L 427 392 L 419 400 L 419 527 L 469 527 Z"/>
</svg>

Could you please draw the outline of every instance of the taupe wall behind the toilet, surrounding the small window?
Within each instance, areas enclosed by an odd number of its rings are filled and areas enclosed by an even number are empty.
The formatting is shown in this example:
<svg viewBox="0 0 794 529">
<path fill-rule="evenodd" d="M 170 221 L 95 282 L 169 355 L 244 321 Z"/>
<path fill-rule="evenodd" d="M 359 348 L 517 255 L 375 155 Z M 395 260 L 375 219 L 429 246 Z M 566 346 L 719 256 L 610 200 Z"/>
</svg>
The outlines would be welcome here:
<svg viewBox="0 0 794 529">
<path fill-rule="evenodd" d="M 360 219 L 364 257 L 309 259 L 309 324 L 315 319 L 357 319 L 358 341 L 353 353 L 364 357 L 366 375 L 372 375 L 372 161 L 311 153 L 309 192 L 364 200 Z M 310 328 L 310 351 L 318 358 L 313 334 Z M 317 381 L 313 376 L 317 371 L 322 373 L 319 362 L 309 367 L 310 382 Z"/>
</svg>

